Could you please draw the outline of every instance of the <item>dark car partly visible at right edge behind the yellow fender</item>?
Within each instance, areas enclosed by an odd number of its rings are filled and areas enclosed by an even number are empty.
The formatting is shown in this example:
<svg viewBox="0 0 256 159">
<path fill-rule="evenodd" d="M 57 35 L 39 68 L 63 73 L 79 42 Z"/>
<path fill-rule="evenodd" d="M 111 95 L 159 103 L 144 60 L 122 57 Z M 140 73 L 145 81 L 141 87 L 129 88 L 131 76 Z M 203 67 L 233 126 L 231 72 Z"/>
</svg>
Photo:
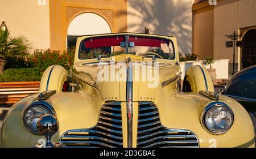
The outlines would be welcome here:
<svg viewBox="0 0 256 159">
<path fill-rule="evenodd" d="M 234 74 L 222 94 L 237 100 L 256 116 L 256 65 Z"/>
</svg>

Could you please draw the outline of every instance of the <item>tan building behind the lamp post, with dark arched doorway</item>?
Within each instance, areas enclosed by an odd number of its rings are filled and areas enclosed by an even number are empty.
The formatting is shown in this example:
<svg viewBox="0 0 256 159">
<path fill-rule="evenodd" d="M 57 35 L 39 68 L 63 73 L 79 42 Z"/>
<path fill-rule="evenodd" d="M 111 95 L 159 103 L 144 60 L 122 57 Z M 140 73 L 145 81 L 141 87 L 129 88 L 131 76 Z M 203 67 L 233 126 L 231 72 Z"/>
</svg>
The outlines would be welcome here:
<svg viewBox="0 0 256 159">
<path fill-rule="evenodd" d="M 192 52 L 201 59 L 230 59 L 229 73 L 233 69 L 233 49 L 226 48 L 225 35 L 236 31 L 241 47 L 236 48 L 236 69 L 256 64 L 256 1 L 197 0 L 192 6 Z"/>
</svg>

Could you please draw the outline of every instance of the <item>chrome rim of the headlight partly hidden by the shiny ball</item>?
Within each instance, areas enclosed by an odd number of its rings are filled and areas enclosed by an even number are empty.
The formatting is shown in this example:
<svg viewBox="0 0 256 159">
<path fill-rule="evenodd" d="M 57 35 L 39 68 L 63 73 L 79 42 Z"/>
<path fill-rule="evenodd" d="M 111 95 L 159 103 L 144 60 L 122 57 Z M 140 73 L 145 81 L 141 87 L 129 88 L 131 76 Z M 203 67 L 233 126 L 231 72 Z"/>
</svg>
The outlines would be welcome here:
<svg viewBox="0 0 256 159">
<path fill-rule="evenodd" d="M 35 128 L 33 129 L 32 127 L 28 126 L 27 120 L 26 120 L 26 115 L 27 115 L 28 111 L 35 108 L 35 107 L 41 107 L 42 109 L 45 109 L 46 111 L 48 111 L 47 114 L 51 114 L 51 115 L 55 115 L 55 110 L 46 101 L 34 101 L 30 105 L 28 105 L 26 109 L 24 109 L 24 111 L 23 111 L 23 123 L 25 124 L 27 130 L 30 131 L 32 134 L 41 135 L 39 132 L 37 132 L 37 130 L 35 130 Z M 40 115 L 40 117 L 42 117 L 43 115 L 45 115 L 45 114 Z M 38 119 L 40 117 L 38 117 Z M 35 122 L 37 122 L 37 121 L 35 121 Z M 36 123 L 35 123 L 35 125 L 36 125 Z"/>
</svg>

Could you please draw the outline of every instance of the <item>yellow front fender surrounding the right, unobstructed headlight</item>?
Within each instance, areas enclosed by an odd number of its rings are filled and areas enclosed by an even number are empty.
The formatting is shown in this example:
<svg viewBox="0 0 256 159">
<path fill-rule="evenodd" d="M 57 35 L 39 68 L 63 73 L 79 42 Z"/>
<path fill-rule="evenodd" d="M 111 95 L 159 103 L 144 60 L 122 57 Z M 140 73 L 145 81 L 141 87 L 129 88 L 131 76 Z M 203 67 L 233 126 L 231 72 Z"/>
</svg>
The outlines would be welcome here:
<svg viewBox="0 0 256 159">
<path fill-rule="evenodd" d="M 212 100 L 198 93 L 176 93 L 170 98 L 160 96 L 156 101 L 160 121 L 164 127 L 190 130 L 199 139 L 200 147 L 254 147 L 254 128 L 247 111 L 229 97 L 220 95 L 220 101 L 234 113 L 233 126 L 222 135 L 209 134 L 201 126 L 201 110 Z"/>
</svg>

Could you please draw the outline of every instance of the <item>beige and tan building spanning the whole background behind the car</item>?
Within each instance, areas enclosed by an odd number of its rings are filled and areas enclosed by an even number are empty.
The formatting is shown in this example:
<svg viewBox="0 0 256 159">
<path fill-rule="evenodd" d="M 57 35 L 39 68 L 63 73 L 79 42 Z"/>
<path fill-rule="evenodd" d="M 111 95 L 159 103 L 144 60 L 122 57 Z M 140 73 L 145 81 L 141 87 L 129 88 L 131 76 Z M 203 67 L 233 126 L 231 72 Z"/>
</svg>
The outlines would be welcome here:
<svg viewBox="0 0 256 159">
<path fill-rule="evenodd" d="M 144 32 L 177 37 L 180 53 L 229 59 L 225 35 L 236 31 L 238 70 L 256 63 L 255 0 L 0 0 L 0 19 L 11 36 L 24 35 L 34 49 L 66 49 L 77 36 L 96 33 Z M 211 0 L 214 1 L 214 0 Z"/>
</svg>

